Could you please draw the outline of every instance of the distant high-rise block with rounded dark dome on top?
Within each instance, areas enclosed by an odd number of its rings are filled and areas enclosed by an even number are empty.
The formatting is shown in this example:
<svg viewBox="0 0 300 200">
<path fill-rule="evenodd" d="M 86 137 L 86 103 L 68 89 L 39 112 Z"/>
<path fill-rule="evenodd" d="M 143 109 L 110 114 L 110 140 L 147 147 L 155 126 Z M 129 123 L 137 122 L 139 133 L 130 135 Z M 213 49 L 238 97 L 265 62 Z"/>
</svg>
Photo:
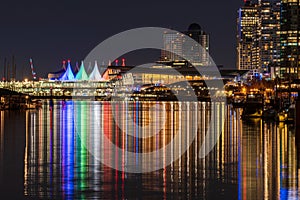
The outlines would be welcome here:
<svg viewBox="0 0 300 200">
<path fill-rule="evenodd" d="M 195 42 L 187 40 L 187 36 Z M 179 56 L 183 55 L 194 66 L 209 65 L 209 35 L 202 30 L 199 24 L 191 24 L 188 30 L 182 33 L 166 32 L 163 39 L 165 50 L 162 51 L 162 61 L 183 60 Z"/>
</svg>

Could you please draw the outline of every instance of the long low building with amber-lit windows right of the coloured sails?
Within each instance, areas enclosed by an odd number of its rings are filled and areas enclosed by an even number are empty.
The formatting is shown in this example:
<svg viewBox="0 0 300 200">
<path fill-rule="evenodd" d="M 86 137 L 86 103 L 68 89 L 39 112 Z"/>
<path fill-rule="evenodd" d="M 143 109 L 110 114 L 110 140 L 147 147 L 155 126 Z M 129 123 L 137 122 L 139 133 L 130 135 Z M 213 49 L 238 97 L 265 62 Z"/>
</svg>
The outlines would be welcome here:
<svg viewBox="0 0 300 200">
<path fill-rule="evenodd" d="M 183 65 L 185 66 L 185 65 Z M 176 67 L 176 66 L 175 66 Z M 210 74 L 210 67 L 205 68 L 205 71 Z M 231 70 L 231 69 L 219 69 L 223 79 L 233 80 L 237 77 L 245 75 L 248 70 Z M 147 71 L 143 69 L 137 69 L 134 66 L 108 66 L 103 77 L 106 80 L 119 80 L 119 85 L 143 85 L 143 84 L 162 84 L 169 85 L 177 82 L 184 81 L 200 81 L 200 80 L 214 80 L 216 77 L 203 76 L 196 68 L 193 67 L 180 67 L 176 70 L 174 66 L 154 65 Z"/>
</svg>

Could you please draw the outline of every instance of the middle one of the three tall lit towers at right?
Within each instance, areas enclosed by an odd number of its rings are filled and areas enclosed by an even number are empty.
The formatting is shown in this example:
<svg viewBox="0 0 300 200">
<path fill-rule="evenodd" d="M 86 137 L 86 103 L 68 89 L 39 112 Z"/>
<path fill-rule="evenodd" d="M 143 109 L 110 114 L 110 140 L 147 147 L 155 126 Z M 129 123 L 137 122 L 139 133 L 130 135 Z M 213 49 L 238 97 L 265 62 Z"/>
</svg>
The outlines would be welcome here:
<svg viewBox="0 0 300 200">
<path fill-rule="evenodd" d="M 279 75 L 280 64 L 280 0 L 260 0 L 261 67 L 272 69 L 272 77 Z"/>
</svg>

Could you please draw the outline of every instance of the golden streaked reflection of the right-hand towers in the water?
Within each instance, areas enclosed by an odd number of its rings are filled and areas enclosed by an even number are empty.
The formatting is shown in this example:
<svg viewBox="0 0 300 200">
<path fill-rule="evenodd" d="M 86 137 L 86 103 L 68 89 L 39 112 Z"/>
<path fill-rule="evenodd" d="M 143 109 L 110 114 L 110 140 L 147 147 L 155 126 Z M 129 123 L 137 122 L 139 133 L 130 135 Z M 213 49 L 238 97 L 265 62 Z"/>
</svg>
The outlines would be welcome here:
<svg viewBox="0 0 300 200">
<path fill-rule="evenodd" d="M 240 122 L 239 199 L 298 199 L 293 125 Z"/>
</svg>

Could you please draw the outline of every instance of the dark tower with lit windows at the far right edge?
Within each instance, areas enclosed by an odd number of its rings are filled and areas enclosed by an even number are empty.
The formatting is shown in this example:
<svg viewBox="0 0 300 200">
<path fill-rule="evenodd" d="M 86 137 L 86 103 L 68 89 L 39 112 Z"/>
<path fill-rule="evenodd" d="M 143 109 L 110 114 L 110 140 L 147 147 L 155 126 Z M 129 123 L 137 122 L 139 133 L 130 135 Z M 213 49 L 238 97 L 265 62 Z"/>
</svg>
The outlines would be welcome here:
<svg viewBox="0 0 300 200">
<path fill-rule="evenodd" d="M 281 0 L 280 77 L 300 78 L 300 0 Z"/>
</svg>

